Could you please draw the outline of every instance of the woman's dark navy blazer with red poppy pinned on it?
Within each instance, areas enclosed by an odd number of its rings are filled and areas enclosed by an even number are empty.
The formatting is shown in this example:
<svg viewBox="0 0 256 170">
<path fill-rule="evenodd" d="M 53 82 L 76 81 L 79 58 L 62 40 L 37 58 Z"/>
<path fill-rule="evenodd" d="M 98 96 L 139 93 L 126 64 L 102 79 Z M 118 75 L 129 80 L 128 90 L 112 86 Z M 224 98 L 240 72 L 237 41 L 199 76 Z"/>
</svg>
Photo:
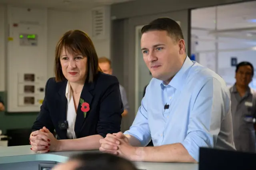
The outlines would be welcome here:
<svg viewBox="0 0 256 170">
<path fill-rule="evenodd" d="M 48 79 L 40 113 L 32 126 L 33 131 L 45 126 L 52 133 L 55 129 L 59 139 L 68 138 L 67 130 L 59 128 L 59 123 L 66 121 L 67 82 L 57 83 L 54 77 Z M 77 138 L 94 134 L 105 137 L 108 133 L 120 132 L 124 107 L 115 76 L 98 72 L 94 82 L 84 84 L 80 98 L 90 105 L 90 110 L 84 118 L 81 105 L 78 105 L 74 127 Z"/>
</svg>

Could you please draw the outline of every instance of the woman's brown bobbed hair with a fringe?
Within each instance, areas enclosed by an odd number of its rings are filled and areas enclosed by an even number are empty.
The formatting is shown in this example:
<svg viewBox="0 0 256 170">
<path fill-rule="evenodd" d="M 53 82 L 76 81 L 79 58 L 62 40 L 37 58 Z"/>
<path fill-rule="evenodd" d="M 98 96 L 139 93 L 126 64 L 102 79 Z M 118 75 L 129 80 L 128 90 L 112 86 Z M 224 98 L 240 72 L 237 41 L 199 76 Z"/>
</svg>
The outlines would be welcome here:
<svg viewBox="0 0 256 170">
<path fill-rule="evenodd" d="M 58 41 L 54 61 L 54 73 L 57 82 L 66 80 L 60 65 L 60 55 L 63 48 L 71 55 L 81 54 L 87 57 L 86 81 L 94 81 L 95 75 L 101 70 L 98 64 L 98 55 L 88 34 L 80 30 L 71 30 L 66 32 Z"/>
</svg>

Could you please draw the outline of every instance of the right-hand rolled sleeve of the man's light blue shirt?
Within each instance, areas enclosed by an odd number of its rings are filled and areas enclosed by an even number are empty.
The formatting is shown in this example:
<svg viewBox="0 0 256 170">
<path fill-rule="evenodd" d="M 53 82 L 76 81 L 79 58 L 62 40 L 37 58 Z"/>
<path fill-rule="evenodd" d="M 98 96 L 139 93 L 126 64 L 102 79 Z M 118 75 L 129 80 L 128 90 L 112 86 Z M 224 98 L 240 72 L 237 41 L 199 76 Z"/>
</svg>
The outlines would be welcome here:
<svg viewBox="0 0 256 170">
<path fill-rule="evenodd" d="M 221 122 L 230 109 L 230 95 L 219 80 L 211 77 L 200 89 L 189 118 L 188 132 L 182 145 L 199 161 L 199 148 L 213 148 Z"/>
</svg>

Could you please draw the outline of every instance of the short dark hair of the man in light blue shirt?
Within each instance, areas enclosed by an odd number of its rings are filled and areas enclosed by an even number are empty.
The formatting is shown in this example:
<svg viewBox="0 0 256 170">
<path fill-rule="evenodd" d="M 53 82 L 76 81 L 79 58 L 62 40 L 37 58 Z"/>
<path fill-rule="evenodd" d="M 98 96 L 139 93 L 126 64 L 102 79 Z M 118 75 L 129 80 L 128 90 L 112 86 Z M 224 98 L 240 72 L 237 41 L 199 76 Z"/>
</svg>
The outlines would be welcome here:
<svg viewBox="0 0 256 170">
<path fill-rule="evenodd" d="M 155 30 L 166 31 L 170 37 L 174 38 L 175 42 L 184 39 L 180 25 L 170 18 L 157 18 L 153 20 L 148 25 L 142 27 L 141 34 Z"/>
</svg>

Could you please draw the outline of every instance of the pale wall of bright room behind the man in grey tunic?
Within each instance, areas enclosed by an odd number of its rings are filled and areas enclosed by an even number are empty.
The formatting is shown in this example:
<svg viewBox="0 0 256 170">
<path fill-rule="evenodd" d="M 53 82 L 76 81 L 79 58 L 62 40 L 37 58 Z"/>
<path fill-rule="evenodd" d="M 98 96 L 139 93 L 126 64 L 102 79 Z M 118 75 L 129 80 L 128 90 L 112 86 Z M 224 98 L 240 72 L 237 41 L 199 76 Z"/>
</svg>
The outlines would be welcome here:
<svg viewBox="0 0 256 170">
<path fill-rule="evenodd" d="M 204 35 L 204 31 L 192 30 L 192 34 L 199 34 L 195 46 L 198 54 L 197 60 L 200 64 L 208 67 L 217 61 L 216 71 L 226 81 L 228 86 L 235 83 L 235 68 L 231 66 L 231 58 L 236 57 L 237 63 L 241 61 L 249 61 L 256 67 L 256 41 L 242 40 L 238 38 L 218 38 L 218 60 L 215 55 L 215 37 L 208 34 Z M 206 32 L 205 32 L 206 33 Z M 252 88 L 256 88 L 256 77 L 250 83 Z"/>
</svg>

